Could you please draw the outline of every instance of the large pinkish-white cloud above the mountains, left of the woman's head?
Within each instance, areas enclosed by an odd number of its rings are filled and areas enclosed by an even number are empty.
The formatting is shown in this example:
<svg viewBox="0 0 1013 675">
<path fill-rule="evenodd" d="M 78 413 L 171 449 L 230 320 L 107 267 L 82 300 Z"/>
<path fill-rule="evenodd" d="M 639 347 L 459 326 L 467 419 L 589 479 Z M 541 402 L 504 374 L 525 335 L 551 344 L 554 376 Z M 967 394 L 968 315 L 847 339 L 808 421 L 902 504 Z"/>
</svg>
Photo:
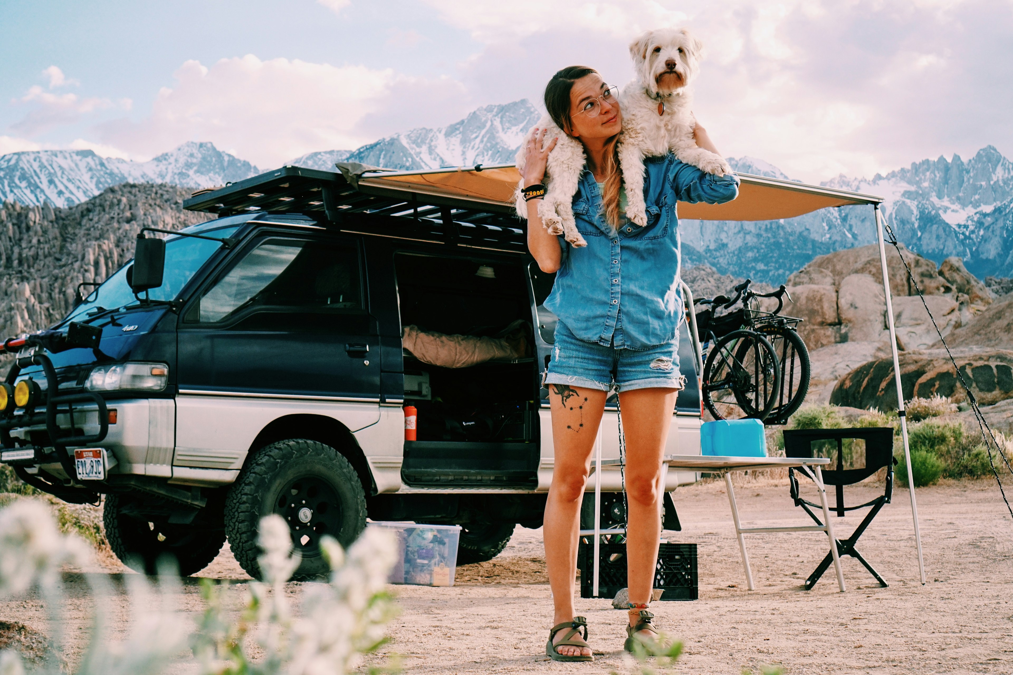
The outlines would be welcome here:
<svg viewBox="0 0 1013 675">
<path fill-rule="evenodd" d="M 159 91 L 145 119 L 101 124 L 101 142 L 155 155 L 186 141 L 211 141 L 270 167 L 308 152 L 354 149 L 383 134 L 444 123 L 470 105 L 461 85 L 446 78 L 252 55 L 210 67 L 187 61 L 175 79 L 172 88 Z M 459 101 L 458 109 L 449 101 Z"/>
</svg>

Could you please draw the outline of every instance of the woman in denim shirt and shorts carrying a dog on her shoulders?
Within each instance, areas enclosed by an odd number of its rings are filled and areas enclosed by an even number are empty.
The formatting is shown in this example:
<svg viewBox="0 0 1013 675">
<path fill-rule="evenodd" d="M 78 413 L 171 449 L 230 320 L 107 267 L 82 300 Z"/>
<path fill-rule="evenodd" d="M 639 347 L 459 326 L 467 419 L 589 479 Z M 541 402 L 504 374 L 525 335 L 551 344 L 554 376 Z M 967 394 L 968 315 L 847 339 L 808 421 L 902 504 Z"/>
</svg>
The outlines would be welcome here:
<svg viewBox="0 0 1013 675">
<path fill-rule="evenodd" d="M 538 199 L 546 160 L 556 139 L 545 131 L 528 141 L 523 172 L 528 199 L 528 247 L 545 272 L 558 272 L 545 306 L 558 317 L 555 347 L 546 377 L 552 405 L 555 469 L 545 507 L 545 559 L 555 605 L 555 625 L 546 654 L 556 661 L 593 661 L 587 621 L 573 616 L 580 501 L 591 451 L 605 400 L 619 392 L 626 434 L 626 540 L 629 624 L 625 649 L 651 641 L 657 631 L 647 611 L 664 486 L 661 456 L 672 423 L 679 371 L 679 227 L 677 201 L 729 201 L 738 193 L 735 176 L 716 177 L 670 154 L 645 161 L 644 227 L 622 216 L 625 194 L 616 156 L 622 128 L 617 91 L 580 66 L 556 73 L 545 88 L 553 121 L 585 149 L 573 214 L 588 245 L 573 248 L 545 230 Z M 706 132 L 697 144 L 717 153 Z M 582 635 L 581 635 L 582 634 Z"/>
</svg>

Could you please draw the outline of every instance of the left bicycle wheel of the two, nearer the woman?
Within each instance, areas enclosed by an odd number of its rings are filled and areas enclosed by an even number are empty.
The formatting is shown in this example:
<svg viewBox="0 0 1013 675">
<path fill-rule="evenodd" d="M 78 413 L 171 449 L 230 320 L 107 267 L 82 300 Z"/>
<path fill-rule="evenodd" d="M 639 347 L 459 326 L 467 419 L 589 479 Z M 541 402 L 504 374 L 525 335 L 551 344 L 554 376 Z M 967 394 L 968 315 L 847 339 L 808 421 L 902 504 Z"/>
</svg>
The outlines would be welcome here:
<svg viewBox="0 0 1013 675">
<path fill-rule="evenodd" d="M 777 353 L 759 333 L 728 333 L 707 354 L 703 405 L 716 420 L 767 419 L 780 387 Z"/>
</svg>

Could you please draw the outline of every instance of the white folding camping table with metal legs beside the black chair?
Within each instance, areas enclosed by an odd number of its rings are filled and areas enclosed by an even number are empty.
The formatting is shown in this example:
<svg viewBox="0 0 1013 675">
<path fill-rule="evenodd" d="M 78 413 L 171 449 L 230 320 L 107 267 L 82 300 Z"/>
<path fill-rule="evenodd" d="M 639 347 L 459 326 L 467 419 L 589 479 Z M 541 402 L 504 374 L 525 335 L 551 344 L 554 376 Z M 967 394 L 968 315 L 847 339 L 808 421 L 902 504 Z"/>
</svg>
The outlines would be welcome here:
<svg viewBox="0 0 1013 675">
<path fill-rule="evenodd" d="M 599 446 L 599 443 L 596 443 Z M 596 447 L 596 450 L 598 447 Z M 668 477 L 670 469 L 683 469 L 697 472 L 724 472 L 724 484 L 728 491 L 728 504 L 731 506 L 731 518 L 735 522 L 735 535 L 738 537 L 738 551 L 743 555 L 743 567 L 746 569 L 746 581 L 749 589 L 755 590 L 753 584 L 753 571 L 750 568 L 750 557 L 746 552 L 745 533 L 760 534 L 763 532 L 827 532 L 830 539 L 830 552 L 834 557 L 834 569 L 837 571 L 837 584 L 843 593 L 844 574 L 841 572 L 841 560 L 838 556 L 837 542 L 834 537 L 834 524 L 830 517 L 830 508 L 827 502 L 827 489 L 823 482 L 823 472 L 821 467 L 830 463 L 827 457 L 725 457 L 700 454 L 667 454 L 663 458 L 665 472 L 661 477 L 661 485 Z M 625 534 L 624 528 L 601 528 L 601 504 L 602 504 L 602 475 L 598 467 L 618 467 L 622 463 L 620 459 L 602 459 L 600 452 L 592 459 L 591 468 L 595 473 L 595 528 L 580 530 L 581 535 L 594 535 L 595 545 L 595 579 L 593 595 L 598 596 L 598 578 L 601 561 L 599 557 L 599 546 L 601 545 L 602 534 Z M 741 471 L 763 471 L 766 469 L 798 469 L 807 473 L 820 492 L 820 505 L 824 512 L 824 525 L 796 525 L 790 527 L 743 527 L 738 519 L 738 507 L 735 504 L 735 491 L 731 486 L 731 472 Z"/>
</svg>

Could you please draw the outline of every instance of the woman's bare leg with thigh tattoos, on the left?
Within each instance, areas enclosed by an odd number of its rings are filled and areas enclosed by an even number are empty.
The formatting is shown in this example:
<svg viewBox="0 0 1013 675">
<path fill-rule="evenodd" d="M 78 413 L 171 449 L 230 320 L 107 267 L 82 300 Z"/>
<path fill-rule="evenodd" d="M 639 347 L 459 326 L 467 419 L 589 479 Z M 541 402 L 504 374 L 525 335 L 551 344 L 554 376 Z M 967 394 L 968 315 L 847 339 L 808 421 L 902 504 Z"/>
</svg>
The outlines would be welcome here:
<svg viewBox="0 0 1013 675">
<path fill-rule="evenodd" d="M 580 502 L 591 471 L 591 451 L 605 410 L 606 393 L 566 385 L 549 385 L 548 388 L 552 404 L 555 463 L 545 504 L 543 535 L 545 566 L 555 611 L 552 624 L 555 625 L 573 618 Z M 557 632 L 555 642 L 562 640 L 567 632 L 566 629 Z M 564 656 L 579 656 L 581 651 L 583 656 L 591 656 L 589 650 L 571 646 L 563 646 L 556 651 Z"/>
</svg>

